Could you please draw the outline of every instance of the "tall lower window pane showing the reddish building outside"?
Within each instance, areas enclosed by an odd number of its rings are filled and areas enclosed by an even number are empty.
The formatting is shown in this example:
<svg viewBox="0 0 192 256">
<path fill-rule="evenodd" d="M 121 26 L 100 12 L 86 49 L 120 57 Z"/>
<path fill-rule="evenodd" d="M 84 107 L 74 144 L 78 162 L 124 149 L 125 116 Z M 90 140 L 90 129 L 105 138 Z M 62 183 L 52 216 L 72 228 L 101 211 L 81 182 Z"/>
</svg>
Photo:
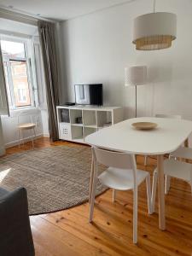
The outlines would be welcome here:
<svg viewBox="0 0 192 256">
<path fill-rule="evenodd" d="M 26 61 L 10 61 L 15 94 L 15 107 L 31 105 L 30 89 L 26 72 Z"/>
</svg>

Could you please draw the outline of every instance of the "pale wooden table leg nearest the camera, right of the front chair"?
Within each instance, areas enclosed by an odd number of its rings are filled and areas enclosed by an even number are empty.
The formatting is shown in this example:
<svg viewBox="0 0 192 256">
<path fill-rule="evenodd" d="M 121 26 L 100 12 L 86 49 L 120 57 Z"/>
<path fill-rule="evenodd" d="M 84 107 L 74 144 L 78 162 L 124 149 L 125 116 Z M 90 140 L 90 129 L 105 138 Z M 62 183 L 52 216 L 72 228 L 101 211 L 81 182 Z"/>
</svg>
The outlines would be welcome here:
<svg viewBox="0 0 192 256">
<path fill-rule="evenodd" d="M 165 195 L 164 195 L 164 156 L 160 154 L 157 156 L 157 170 L 158 170 L 158 192 L 159 192 L 159 225 L 160 230 L 166 230 L 165 217 Z"/>
</svg>

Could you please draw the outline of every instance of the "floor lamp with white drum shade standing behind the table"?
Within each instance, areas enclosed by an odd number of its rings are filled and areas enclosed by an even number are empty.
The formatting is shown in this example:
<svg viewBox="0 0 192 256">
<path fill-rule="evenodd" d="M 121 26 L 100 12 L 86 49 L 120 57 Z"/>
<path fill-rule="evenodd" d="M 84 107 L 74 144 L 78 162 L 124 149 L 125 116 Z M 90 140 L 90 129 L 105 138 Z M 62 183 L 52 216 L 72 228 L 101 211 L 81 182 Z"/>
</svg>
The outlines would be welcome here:
<svg viewBox="0 0 192 256">
<path fill-rule="evenodd" d="M 125 86 L 136 88 L 136 117 L 137 117 L 137 85 L 147 82 L 147 66 L 125 67 Z"/>
</svg>

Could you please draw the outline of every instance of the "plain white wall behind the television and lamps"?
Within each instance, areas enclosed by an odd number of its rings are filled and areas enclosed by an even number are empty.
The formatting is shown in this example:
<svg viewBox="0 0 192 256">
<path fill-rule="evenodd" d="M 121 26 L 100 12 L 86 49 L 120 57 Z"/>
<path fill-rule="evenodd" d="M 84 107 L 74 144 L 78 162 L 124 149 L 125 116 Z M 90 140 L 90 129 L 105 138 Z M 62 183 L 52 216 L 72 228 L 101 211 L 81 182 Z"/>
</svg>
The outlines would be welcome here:
<svg viewBox="0 0 192 256">
<path fill-rule="evenodd" d="M 192 119 L 192 1 L 156 1 L 156 11 L 177 14 L 177 39 L 170 49 L 137 51 L 133 19 L 152 7 L 151 0 L 137 0 L 62 23 L 68 101 L 74 101 L 73 84 L 102 82 L 104 103 L 125 106 L 126 117 L 134 116 L 135 90 L 124 86 L 124 68 L 144 64 L 148 84 L 138 87 L 138 115 Z"/>
</svg>

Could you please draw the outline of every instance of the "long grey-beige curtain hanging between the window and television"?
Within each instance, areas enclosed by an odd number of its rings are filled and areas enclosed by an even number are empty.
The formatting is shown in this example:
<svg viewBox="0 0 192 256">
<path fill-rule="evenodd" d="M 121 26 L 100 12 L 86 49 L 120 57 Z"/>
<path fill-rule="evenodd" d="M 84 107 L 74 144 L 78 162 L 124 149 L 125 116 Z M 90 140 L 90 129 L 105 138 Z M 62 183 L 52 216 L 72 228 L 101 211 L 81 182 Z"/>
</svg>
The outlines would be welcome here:
<svg viewBox="0 0 192 256">
<path fill-rule="evenodd" d="M 39 20 L 38 32 L 44 61 L 44 75 L 49 113 L 49 136 L 55 141 L 59 137 L 56 118 L 56 106 L 59 105 L 59 74 L 55 46 L 55 24 Z"/>
</svg>

